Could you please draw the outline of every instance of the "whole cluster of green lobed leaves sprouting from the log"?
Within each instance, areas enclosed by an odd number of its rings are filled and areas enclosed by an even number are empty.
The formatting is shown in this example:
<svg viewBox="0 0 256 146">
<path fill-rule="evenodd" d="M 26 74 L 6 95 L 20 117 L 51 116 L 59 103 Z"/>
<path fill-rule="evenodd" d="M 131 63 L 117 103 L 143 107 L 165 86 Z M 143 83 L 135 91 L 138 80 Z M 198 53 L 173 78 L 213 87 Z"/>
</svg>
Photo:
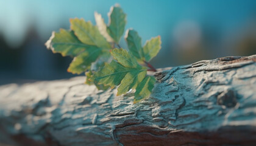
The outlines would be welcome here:
<svg viewBox="0 0 256 146">
<path fill-rule="evenodd" d="M 108 13 L 109 23 L 95 12 L 96 25 L 84 19 L 70 19 L 71 30 L 52 32 L 46 47 L 54 53 L 74 57 L 68 71 L 73 74 L 85 72 L 88 85 L 105 90 L 118 86 L 117 96 L 135 89 L 134 103 L 149 97 L 155 78 L 147 71 L 155 71 L 148 63 L 161 49 L 160 36 L 151 38 L 141 46 L 141 38 L 135 30 L 127 30 L 125 39 L 129 51 L 114 49 L 126 27 L 126 14 L 119 5 Z M 113 57 L 113 58 L 112 58 Z"/>
</svg>

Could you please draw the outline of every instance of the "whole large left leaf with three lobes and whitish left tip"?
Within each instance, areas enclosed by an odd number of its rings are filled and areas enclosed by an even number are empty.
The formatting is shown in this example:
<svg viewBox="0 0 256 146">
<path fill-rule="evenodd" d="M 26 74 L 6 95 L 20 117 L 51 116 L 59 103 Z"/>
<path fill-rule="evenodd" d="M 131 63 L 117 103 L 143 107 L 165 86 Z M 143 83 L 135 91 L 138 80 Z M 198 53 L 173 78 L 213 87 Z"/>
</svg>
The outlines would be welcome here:
<svg viewBox="0 0 256 146">
<path fill-rule="evenodd" d="M 46 42 L 46 47 L 52 52 L 74 57 L 68 72 L 81 74 L 90 69 L 91 64 L 102 56 L 110 56 L 110 44 L 96 26 L 76 18 L 71 19 L 71 28 L 71 31 L 60 29 L 60 32 L 53 32 Z"/>
</svg>

